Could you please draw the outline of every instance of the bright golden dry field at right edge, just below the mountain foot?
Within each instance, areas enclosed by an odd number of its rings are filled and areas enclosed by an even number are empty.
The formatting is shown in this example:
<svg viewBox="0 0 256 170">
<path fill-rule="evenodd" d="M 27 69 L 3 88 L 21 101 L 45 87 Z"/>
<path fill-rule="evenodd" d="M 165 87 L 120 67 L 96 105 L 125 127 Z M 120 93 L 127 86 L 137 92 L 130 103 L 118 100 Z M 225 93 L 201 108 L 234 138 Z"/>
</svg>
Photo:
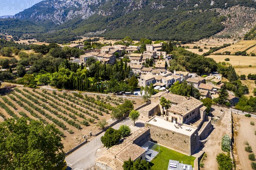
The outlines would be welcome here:
<svg viewBox="0 0 256 170">
<path fill-rule="evenodd" d="M 235 43 L 234 45 L 227 46 L 226 48 L 223 48 L 223 49 L 219 49 L 214 53 L 218 53 L 218 52 L 222 53 L 225 51 L 229 51 L 231 52 L 231 54 L 234 54 L 235 52 L 238 52 L 238 51 L 242 52 L 255 44 L 256 44 L 256 40 L 241 40 L 238 43 Z M 253 52 L 254 50 L 256 50 L 255 46 L 252 49 L 248 49 L 247 52 L 250 52 L 250 51 Z"/>
</svg>

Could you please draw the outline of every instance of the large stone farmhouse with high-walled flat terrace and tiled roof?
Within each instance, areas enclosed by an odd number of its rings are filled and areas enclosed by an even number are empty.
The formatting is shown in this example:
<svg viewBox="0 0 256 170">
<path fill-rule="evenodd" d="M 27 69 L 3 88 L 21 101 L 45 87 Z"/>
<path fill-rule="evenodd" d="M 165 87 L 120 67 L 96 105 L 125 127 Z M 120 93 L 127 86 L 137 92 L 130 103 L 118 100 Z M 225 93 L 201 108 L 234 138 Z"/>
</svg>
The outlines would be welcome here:
<svg viewBox="0 0 256 170">
<path fill-rule="evenodd" d="M 160 98 L 171 102 L 163 108 Z M 140 119 L 147 121 L 151 140 L 186 155 L 192 155 L 200 147 L 200 140 L 212 129 L 211 118 L 206 115 L 201 101 L 191 97 L 159 92 L 151 96 L 151 103 L 140 108 Z M 149 120 L 148 120 L 149 119 Z"/>
</svg>

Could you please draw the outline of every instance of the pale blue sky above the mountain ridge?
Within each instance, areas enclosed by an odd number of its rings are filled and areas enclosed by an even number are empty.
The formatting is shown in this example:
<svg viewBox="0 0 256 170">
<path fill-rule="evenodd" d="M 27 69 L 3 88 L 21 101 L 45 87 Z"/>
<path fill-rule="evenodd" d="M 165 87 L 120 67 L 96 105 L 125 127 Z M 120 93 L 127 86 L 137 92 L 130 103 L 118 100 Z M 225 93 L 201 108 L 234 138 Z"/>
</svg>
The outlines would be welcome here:
<svg viewBox="0 0 256 170">
<path fill-rule="evenodd" d="M 14 15 L 42 0 L 0 0 L 0 16 Z"/>
</svg>

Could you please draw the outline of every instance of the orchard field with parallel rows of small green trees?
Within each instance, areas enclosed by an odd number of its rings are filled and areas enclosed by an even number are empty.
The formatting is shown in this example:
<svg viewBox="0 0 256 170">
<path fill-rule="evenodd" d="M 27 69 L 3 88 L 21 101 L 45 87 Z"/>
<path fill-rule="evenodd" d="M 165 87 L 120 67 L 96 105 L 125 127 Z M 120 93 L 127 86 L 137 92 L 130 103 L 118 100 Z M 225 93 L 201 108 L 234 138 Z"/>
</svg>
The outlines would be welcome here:
<svg viewBox="0 0 256 170">
<path fill-rule="evenodd" d="M 116 96 L 15 88 L 0 97 L 0 121 L 23 116 L 55 124 L 60 130 L 64 151 L 68 151 L 84 141 L 84 135 L 98 132 L 98 121 L 113 122 L 110 120 L 112 109 L 124 101 Z M 138 107 L 144 101 L 138 98 L 132 102 Z"/>
</svg>

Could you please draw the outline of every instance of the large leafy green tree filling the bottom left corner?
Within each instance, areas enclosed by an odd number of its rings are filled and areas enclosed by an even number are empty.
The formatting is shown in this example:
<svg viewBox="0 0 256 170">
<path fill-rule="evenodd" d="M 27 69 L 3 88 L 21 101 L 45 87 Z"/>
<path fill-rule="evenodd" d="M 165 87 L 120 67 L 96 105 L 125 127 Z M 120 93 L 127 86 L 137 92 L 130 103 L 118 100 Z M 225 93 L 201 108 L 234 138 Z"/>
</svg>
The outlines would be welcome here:
<svg viewBox="0 0 256 170">
<path fill-rule="evenodd" d="M 52 124 L 20 118 L 0 123 L 0 169 L 52 170 L 64 161 L 60 132 Z M 60 169 L 61 167 L 59 167 Z"/>
</svg>

